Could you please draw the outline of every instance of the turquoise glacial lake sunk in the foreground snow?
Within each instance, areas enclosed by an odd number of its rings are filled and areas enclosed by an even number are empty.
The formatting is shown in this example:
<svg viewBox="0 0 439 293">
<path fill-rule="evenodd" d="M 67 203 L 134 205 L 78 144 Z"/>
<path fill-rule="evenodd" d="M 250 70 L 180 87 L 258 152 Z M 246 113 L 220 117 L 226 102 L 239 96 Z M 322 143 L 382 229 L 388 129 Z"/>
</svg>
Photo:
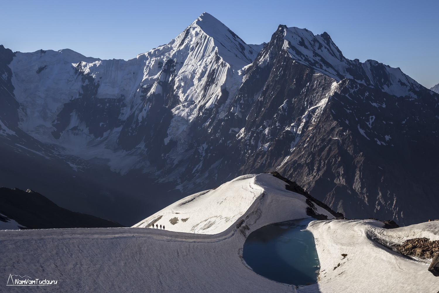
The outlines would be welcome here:
<svg viewBox="0 0 439 293">
<path fill-rule="evenodd" d="M 270 224 L 246 239 L 243 258 L 255 273 L 291 285 L 317 282 L 320 262 L 313 234 L 304 230 L 313 218 Z"/>
</svg>

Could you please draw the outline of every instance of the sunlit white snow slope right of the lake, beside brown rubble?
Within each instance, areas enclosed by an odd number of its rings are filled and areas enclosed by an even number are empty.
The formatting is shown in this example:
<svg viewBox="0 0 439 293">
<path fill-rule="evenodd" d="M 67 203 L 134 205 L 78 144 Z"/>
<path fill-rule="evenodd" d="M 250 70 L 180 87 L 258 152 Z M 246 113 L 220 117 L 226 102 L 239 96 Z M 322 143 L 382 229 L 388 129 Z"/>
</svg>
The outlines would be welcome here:
<svg viewBox="0 0 439 293">
<path fill-rule="evenodd" d="M 439 240 L 438 222 L 381 227 L 374 220 L 311 222 L 308 229 L 313 232 L 320 260 L 319 290 L 315 292 L 436 293 L 439 278 L 428 271 L 429 263 L 403 257 L 374 239 L 399 244 L 420 237 Z M 342 253 L 347 254 L 345 259 Z"/>
</svg>

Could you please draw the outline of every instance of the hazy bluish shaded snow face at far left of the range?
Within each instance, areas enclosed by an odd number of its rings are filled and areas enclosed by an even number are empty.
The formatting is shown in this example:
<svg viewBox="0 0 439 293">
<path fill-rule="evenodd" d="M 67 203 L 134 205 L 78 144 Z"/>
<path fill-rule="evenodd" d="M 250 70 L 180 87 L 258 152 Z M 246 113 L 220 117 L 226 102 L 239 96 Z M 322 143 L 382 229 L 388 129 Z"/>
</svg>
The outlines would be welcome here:
<svg viewBox="0 0 439 293">
<path fill-rule="evenodd" d="M 97 60 L 69 49 L 17 52 L 10 67 L 14 96 L 21 105 L 22 130 L 42 141 L 50 140 L 53 121 L 81 90 L 80 78 L 74 74 L 72 64 Z"/>
</svg>

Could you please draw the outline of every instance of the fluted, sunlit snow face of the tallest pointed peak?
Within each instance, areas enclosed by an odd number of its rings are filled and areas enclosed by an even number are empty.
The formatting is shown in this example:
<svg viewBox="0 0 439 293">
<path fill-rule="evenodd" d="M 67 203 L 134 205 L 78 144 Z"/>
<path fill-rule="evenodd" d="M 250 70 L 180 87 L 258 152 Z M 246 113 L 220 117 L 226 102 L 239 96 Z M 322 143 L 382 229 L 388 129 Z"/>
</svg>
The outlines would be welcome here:
<svg viewBox="0 0 439 293">
<path fill-rule="evenodd" d="M 241 84 L 238 71 L 251 63 L 262 48 L 246 44 L 208 13 L 203 13 L 167 46 L 172 47 L 169 58 L 175 62 L 172 90 L 180 101 L 172 111 L 189 122 L 203 109 L 212 108 L 224 90 L 233 97 Z M 163 63 L 166 61 L 167 58 Z M 226 106 L 227 101 L 224 102 Z M 181 123 L 181 119 L 176 120 Z M 172 129 L 169 134 L 169 139 L 178 137 Z"/>
</svg>

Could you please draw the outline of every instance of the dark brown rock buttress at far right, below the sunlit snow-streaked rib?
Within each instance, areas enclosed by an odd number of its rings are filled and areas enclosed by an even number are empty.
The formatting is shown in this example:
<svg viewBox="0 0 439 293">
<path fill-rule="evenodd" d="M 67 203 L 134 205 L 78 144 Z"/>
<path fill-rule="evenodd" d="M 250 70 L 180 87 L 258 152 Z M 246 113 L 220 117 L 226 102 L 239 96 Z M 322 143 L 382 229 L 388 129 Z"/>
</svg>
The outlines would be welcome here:
<svg viewBox="0 0 439 293">
<path fill-rule="evenodd" d="M 346 83 L 279 171 L 326 195 L 324 202 L 348 217 L 374 214 L 408 224 L 419 211 L 433 216 L 434 204 L 426 203 L 439 187 L 434 103 L 373 93 L 383 109 L 362 99 L 364 89 L 351 92 L 355 82 Z"/>
</svg>

